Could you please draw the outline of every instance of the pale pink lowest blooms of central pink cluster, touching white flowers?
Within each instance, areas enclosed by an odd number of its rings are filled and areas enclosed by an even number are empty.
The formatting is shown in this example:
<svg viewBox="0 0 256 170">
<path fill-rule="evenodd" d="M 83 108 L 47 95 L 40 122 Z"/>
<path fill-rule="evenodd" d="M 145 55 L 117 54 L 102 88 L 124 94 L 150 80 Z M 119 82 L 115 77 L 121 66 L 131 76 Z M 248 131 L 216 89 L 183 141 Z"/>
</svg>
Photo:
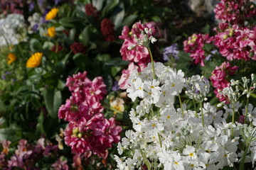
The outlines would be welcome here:
<svg viewBox="0 0 256 170">
<path fill-rule="evenodd" d="M 122 76 L 121 79 L 118 81 L 118 85 L 120 89 L 127 89 L 129 84 L 127 84 L 127 81 L 129 79 L 129 75 L 132 74 L 134 69 L 138 69 L 137 65 L 135 65 L 133 62 L 131 62 L 128 66 L 128 69 L 122 70 Z"/>
</svg>

